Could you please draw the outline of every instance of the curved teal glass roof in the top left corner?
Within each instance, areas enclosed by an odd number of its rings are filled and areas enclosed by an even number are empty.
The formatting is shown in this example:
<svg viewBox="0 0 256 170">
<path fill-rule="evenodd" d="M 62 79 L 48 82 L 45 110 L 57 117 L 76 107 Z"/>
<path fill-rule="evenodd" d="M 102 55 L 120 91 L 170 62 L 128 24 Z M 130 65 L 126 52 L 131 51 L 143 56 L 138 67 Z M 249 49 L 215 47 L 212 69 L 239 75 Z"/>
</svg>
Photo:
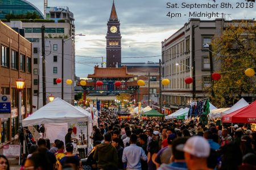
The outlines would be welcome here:
<svg viewBox="0 0 256 170">
<path fill-rule="evenodd" d="M 27 12 L 36 12 L 40 19 L 44 19 L 42 12 L 26 0 L 0 1 L 0 19 L 5 19 L 6 14 L 26 15 Z"/>
</svg>

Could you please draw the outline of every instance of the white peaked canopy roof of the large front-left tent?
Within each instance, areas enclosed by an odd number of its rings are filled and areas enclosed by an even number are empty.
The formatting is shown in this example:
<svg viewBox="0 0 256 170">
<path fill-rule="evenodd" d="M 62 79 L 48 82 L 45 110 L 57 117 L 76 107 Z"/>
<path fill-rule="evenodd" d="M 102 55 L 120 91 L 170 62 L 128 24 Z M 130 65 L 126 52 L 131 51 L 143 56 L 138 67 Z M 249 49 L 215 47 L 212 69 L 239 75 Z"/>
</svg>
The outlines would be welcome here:
<svg viewBox="0 0 256 170">
<path fill-rule="evenodd" d="M 86 112 L 86 111 L 85 111 Z M 89 114 L 89 113 L 88 113 Z M 22 121 L 23 126 L 88 121 L 88 114 L 56 98 Z"/>
</svg>

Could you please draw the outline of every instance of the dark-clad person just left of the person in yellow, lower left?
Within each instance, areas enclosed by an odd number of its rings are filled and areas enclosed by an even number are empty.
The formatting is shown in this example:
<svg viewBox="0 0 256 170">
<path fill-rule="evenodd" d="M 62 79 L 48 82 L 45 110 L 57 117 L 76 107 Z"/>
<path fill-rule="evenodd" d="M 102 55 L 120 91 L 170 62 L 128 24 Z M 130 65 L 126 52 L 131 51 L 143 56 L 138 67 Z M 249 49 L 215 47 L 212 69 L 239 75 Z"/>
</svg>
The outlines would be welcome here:
<svg viewBox="0 0 256 170">
<path fill-rule="evenodd" d="M 57 160 L 55 158 L 55 155 L 52 154 L 52 152 L 49 152 L 48 148 L 46 147 L 46 139 L 41 138 L 38 140 L 38 150 L 40 151 L 40 154 L 46 155 L 49 162 L 49 170 L 55 169 L 55 164 Z M 32 154 L 32 156 L 34 156 L 34 154 Z M 38 157 L 39 156 L 36 156 L 35 158 L 38 158 Z M 34 160 L 34 158 L 32 160 Z"/>
</svg>

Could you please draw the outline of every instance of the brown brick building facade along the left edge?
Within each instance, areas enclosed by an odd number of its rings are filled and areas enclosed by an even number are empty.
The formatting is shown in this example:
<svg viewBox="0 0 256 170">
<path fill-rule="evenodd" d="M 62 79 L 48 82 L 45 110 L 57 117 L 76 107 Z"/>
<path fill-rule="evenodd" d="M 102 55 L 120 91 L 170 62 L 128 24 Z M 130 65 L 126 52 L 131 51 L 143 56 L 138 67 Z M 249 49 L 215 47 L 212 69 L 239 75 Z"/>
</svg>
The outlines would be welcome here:
<svg viewBox="0 0 256 170">
<path fill-rule="evenodd" d="M 32 112 L 32 44 L 8 25 L 0 22 L 2 95 L 11 97 L 11 117 L 1 120 L 1 143 L 11 141 L 18 131 L 18 90 L 16 80 L 25 80 L 22 91 L 22 117 Z"/>
</svg>

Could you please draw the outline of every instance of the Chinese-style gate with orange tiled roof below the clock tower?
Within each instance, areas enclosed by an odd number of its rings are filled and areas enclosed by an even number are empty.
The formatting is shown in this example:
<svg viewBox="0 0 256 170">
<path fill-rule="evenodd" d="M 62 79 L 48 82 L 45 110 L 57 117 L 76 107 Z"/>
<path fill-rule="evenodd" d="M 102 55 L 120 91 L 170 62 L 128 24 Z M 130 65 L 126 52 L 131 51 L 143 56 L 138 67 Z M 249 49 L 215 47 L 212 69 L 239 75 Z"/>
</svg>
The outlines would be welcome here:
<svg viewBox="0 0 256 170">
<path fill-rule="evenodd" d="M 79 83 L 79 86 L 80 83 Z M 138 103 L 138 84 L 134 80 L 134 75 L 127 74 L 127 67 L 94 67 L 94 74 L 88 74 L 86 85 L 81 86 L 84 90 L 84 101 L 90 99 L 96 105 L 96 101 L 101 101 L 102 108 L 110 109 L 117 104 Z M 126 96 L 125 100 L 122 97 Z M 118 100 L 119 99 L 119 100 Z M 121 99 L 121 100 L 120 100 Z"/>
</svg>

